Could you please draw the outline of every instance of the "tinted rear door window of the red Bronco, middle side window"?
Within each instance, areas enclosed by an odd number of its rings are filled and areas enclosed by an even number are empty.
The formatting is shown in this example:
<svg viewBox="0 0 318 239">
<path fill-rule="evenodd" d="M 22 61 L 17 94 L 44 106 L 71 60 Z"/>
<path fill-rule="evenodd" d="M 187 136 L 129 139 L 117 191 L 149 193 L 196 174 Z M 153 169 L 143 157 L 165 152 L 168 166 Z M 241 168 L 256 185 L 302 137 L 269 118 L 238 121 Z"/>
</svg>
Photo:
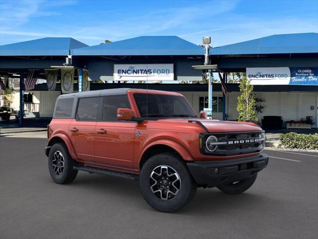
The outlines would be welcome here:
<svg viewBox="0 0 318 239">
<path fill-rule="evenodd" d="M 79 121 L 97 121 L 99 97 L 79 98 L 76 119 Z"/>
</svg>

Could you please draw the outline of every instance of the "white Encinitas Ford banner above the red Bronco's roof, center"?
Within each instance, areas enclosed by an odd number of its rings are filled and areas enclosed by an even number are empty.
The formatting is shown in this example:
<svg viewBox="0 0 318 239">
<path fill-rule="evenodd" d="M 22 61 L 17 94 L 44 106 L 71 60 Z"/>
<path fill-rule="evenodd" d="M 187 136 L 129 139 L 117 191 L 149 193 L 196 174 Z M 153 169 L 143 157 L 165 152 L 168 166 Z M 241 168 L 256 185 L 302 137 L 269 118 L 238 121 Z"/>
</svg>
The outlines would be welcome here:
<svg viewBox="0 0 318 239">
<path fill-rule="evenodd" d="M 114 81 L 173 81 L 173 64 L 115 64 Z"/>
</svg>

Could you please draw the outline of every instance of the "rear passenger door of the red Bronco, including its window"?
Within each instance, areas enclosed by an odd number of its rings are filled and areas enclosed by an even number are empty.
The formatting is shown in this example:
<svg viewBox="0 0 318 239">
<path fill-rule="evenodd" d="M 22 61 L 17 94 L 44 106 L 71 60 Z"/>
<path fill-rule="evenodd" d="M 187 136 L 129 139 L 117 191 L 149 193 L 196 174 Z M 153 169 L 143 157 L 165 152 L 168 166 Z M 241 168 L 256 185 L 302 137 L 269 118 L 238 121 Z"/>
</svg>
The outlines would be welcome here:
<svg viewBox="0 0 318 239">
<path fill-rule="evenodd" d="M 99 100 L 99 97 L 79 98 L 76 117 L 69 127 L 79 161 L 94 162 L 94 134 Z"/>
</svg>

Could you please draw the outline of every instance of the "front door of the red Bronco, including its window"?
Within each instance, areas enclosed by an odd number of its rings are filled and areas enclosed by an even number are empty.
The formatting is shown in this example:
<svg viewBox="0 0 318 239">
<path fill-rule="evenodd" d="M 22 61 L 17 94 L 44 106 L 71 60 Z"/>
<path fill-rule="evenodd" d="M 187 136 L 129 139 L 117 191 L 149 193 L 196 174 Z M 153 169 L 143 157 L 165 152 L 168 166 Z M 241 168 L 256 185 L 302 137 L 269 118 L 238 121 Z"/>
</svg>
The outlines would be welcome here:
<svg viewBox="0 0 318 239">
<path fill-rule="evenodd" d="M 127 95 L 104 97 L 102 121 L 95 127 L 95 161 L 133 169 L 136 122 L 117 120 L 118 108 L 131 109 Z"/>
</svg>

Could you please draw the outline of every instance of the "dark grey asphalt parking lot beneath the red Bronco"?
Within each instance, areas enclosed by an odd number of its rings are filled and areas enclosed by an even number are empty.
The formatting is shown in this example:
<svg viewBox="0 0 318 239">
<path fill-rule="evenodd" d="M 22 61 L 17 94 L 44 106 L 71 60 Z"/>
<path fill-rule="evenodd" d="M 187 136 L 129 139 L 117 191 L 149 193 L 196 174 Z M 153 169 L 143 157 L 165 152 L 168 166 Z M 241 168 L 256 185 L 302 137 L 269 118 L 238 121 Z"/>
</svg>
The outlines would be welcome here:
<svg viewBox="0 0 318 239">
<path fill-rule="evenodd" d="M 46 141 L 0 137 L 1 239 L 318 238 L 318 153 L 266 150 L 269 165 L 245 193 L 198 189 L 167 214 L 126 179 L 79 172 L 53 183 Z"/>
</svg>

